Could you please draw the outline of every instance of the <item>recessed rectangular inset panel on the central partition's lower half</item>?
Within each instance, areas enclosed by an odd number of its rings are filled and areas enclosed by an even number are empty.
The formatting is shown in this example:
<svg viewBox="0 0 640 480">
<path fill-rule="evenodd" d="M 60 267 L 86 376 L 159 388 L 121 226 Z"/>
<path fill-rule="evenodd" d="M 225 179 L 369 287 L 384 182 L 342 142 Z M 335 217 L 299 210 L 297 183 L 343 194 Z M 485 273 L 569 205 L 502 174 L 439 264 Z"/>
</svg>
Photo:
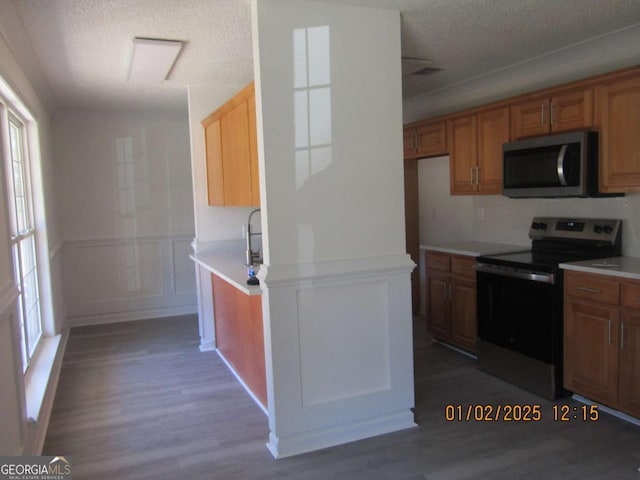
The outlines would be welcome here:
<svg viewBox="0 0 640 480">
<path fill-rule="evenodd" d="M 302 404 L 389 390 L 389 317 L 382 282 L 298 290 Z"/>
</svg>

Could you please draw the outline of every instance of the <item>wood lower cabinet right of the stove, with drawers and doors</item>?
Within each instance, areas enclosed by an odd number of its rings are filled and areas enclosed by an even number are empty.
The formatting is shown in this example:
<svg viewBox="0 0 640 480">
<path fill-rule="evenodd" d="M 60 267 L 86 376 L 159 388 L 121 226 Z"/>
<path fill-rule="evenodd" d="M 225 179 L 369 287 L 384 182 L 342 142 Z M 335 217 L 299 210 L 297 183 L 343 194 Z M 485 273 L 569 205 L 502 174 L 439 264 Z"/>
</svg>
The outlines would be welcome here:
<svg viewBox="0 0 640 480">
<path fill-rule="evenodd" d="M 640 417 L 640 281 L 565 273 L 564 385 Z"/>
</svg>

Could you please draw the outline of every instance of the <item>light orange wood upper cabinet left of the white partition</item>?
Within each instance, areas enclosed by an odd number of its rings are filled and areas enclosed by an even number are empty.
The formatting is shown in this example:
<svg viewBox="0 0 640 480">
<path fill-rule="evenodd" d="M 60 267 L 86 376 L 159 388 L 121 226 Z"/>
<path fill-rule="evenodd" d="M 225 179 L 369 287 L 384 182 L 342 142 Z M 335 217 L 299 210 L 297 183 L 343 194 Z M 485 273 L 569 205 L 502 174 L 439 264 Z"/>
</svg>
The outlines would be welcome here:
<svg viewBox="0 0 640 480">
<path fill-rule="evenodd" d="M 202 121 L 209 205 L 259 206 L 254 86 Z"/>
</svg>

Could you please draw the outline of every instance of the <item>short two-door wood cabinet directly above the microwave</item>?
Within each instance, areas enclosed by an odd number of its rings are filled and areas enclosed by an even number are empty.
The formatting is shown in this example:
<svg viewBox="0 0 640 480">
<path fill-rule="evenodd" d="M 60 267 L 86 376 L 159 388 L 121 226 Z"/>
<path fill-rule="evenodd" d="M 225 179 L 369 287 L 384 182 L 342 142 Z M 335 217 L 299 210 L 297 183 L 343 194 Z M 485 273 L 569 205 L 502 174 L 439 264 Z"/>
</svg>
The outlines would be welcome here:
<svg viewBox="0 0 640 480">
<path fill-rule="evenodd" d="M 593 89 L 549 92 L 511 105 L 511 138 L 518 139 L 592 127 Z"/>
</svg>

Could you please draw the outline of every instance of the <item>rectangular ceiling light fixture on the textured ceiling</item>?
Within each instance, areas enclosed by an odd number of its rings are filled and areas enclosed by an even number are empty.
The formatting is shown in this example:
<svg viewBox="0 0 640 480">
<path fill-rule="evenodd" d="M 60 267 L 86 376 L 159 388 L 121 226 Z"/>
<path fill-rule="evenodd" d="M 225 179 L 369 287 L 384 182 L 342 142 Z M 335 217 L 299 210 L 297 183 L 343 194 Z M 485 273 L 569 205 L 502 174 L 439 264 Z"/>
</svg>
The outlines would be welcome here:
<svg viewBox="0 0 640 480">
<path fill-rule="evenodd" d="M 180 50 L 182 42 L 177 40 L 134 38 L 127 80 L 155 83 L 166 80 Z"/>
</svg>

